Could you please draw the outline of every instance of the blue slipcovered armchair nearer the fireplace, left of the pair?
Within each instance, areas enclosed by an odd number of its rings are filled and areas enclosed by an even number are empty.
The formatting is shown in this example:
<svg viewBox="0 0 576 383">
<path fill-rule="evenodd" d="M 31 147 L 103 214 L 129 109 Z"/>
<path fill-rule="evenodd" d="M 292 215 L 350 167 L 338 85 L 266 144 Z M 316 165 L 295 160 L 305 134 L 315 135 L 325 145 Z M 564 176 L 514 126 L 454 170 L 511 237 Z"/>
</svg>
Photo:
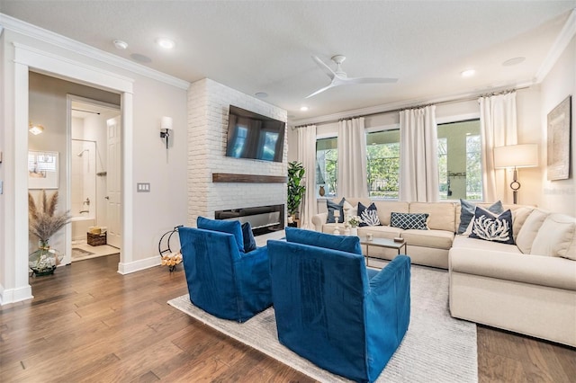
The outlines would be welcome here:
<svg viewBox="0 0 576 383">
<path fill-rule="evenodd" d="M 266 246 L 244 253 L 238 221 L 198 218 L 197 225 L 203 228 L 178 228 L 193 305 L 238 322 L 246 322 L 270 307 Z"/>
</svg>

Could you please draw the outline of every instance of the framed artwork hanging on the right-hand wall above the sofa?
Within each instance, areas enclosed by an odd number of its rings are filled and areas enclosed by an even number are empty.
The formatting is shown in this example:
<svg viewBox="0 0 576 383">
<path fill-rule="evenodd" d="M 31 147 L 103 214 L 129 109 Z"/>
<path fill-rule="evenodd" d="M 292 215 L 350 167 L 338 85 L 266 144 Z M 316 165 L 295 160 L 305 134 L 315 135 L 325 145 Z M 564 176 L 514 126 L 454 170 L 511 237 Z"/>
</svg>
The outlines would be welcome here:
<svg viewBox="0 0 576 383">
<path fill-rule="evenodd" d="M 566 180 L 570 176 L 570 134 L 572 96 L 568 96 L 548 113 L 548 181 Z"/>
</svg>

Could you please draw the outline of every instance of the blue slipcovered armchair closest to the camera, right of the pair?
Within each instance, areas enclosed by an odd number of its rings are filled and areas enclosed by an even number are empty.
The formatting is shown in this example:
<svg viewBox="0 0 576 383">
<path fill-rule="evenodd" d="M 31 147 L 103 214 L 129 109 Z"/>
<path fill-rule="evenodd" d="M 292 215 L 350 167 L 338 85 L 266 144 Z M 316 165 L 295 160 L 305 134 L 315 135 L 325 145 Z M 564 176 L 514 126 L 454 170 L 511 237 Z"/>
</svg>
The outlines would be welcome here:
<svg viewBox="0 0 576 383">
<path fill-rule="evenodd" d="M 410 258 L 376 272 L 356 236 L 287 227 L 286 239 L 268 241 L 280 343 L 322 369 L 374 381 L 408 330 Z"/>
</svg>

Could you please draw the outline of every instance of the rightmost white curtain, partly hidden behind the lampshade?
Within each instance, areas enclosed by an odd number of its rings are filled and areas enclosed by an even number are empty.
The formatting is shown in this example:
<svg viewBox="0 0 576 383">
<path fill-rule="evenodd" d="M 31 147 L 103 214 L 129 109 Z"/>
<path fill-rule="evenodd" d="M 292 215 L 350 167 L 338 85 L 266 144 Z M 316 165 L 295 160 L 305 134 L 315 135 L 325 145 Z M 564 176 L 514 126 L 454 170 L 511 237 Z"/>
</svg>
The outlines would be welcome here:
<svg viewBox="0 0 576 383">
<path fill-rule="evenodd" d="M 516 145 L 516 92 L 478 99 L 482 137 L 482 198 L 486 201 L 508 200 L 505 169 L 494 169 L 494 147 Z"/>
</svg>

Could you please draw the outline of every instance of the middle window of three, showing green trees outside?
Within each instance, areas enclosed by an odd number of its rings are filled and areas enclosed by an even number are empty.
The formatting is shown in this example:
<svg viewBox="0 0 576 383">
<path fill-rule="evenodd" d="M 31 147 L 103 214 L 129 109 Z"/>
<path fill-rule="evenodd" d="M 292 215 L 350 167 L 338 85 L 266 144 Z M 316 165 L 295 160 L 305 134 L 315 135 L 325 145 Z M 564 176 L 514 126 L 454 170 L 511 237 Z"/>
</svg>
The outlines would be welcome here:
<svg viewBox="0 0 576 383">
<path fill-rule="evenodd" d="M 400 129 L 366 134 L 366 175 L 370 197 L 398 200 L 400 190 Z"/>
</svg>

